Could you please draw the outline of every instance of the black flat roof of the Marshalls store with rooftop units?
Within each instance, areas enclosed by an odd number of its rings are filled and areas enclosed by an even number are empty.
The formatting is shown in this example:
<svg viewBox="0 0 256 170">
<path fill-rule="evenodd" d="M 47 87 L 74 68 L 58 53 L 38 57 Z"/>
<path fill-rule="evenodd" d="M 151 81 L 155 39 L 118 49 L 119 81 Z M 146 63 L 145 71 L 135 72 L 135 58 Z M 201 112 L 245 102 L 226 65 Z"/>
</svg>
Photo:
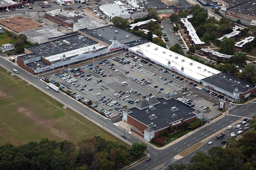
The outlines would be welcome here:
<svg viewBox="0 0 256 170">
<path fill-rule="evenodd" d="M 180 102 L 174 99 L 158 99 L 160 104 L 154 105 L 155 109 L 143 109 L 139 110 L 137 108 L 130 109 L 133 113 L 129 116 L 140 121 L 141 123 L 145 124 L 146 126 L 152 128 L 153 130 L 157 131 L 162 128 L 168 127 L 170 123 L 178 121 L 183 118 L 183 120 L 187 120 L 196 116 L 192 112 L 194 109 L 190 108 L 189 105 Z M 176 106 L 178 110 L 172 111 L 171 108 Z M 146 112 L 148 110 L 149 112 Z M 155 118 L 150 118 L 150 115 L 155 115 Z M 172 115 L 175 114 L 175 117 Z M 156 127 L 150 126 L 151 123 L 154 123 Z"/>
</svg>

